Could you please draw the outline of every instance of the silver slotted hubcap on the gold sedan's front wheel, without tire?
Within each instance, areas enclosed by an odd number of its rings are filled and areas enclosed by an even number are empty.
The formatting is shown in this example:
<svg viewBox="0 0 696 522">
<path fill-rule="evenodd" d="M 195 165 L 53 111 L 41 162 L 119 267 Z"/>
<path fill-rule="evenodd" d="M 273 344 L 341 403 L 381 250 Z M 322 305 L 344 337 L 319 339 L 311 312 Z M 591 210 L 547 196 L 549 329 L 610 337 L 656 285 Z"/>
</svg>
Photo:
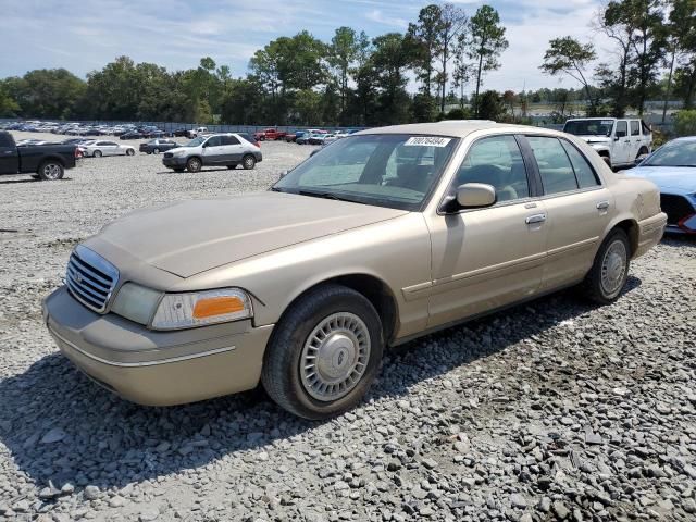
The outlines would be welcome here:
<svg viewBox="0 0 696 522">
<path fill-rule="evenodd" d="M 307 393 L 322 401 L 340 399 L 355 388 L 370 360 L 370 333 L 349 312 L 334 313 L 309 334 L 300 356 L 300 377 Z"/>
</svg>

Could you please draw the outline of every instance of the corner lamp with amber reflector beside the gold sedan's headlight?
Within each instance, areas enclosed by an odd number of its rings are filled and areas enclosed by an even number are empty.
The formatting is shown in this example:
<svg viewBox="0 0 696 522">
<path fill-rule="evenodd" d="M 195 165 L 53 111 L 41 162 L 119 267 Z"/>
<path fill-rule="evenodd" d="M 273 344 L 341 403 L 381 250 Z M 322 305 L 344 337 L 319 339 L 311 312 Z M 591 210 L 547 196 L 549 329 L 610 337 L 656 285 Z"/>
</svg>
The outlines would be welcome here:
<svg viewBox="0 0 696 522">
<path fill-rule="evenodd" d="M 165 294 L 152 319 L 156 330 L 190 328 L 253 315 L 249 296 L 239 288 Z"/>
</svg>

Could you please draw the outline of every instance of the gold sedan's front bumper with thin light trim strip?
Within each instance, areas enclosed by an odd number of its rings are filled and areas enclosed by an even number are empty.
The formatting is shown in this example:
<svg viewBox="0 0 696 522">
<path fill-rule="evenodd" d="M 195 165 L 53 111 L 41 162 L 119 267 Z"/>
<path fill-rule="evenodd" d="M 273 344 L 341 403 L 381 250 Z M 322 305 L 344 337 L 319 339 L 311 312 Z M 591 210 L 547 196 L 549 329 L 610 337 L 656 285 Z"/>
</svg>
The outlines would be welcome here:
<svg viewBox="0 0 696 522">
<path fill-rule="evenodd" d="M 250 321 L 153 332 L 113 313 L 100 315 L 65 287 L 44 300 L 60 350 L 107 389 L 140 405 L 171 406 L 251 389 L 273 325 Z"/>
</svg>

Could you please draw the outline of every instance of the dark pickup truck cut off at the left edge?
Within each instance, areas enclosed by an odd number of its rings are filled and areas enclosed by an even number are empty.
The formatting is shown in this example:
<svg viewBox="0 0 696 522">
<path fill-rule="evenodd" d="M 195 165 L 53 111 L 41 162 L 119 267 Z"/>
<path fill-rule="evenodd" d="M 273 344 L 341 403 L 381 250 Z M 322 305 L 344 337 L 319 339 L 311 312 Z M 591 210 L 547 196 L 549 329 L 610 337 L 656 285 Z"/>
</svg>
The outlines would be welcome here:
<svg viewBox="0 0 696 522">
<path fill-rule="evenodd" d="M 0 175 L 32 174 L 40 179 L 60 179 L 75 166 L 74 145 L 24 145 L 17 147 L 7 130 L 0 130 Z"/>
</svg>

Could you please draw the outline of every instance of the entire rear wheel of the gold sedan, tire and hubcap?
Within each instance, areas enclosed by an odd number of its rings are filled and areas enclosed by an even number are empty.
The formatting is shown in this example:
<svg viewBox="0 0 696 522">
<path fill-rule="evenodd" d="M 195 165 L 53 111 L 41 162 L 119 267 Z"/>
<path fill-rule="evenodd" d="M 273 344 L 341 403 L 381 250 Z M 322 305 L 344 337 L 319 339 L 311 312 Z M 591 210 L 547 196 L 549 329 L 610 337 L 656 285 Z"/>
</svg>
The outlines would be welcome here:
<svg viewBox="0 0 696 522">
<path fill-rule="evenodd" d="M 613 264 L 619 262 L 616 257 L 610 259 L 610 256 L 613 254 L 622 258 L 620 265 Z M 580 289 L 591 301 L 598 304 L 610 304 L 621 295 L 629 278 L 630 268 L 631 243 L 629 236 L 621 228 L 614 228 L 601 243 L 592 269 L 587 272 Z M 602 277 L 604 273 L 607 274 L 606 277 Z"/>
</svg>

